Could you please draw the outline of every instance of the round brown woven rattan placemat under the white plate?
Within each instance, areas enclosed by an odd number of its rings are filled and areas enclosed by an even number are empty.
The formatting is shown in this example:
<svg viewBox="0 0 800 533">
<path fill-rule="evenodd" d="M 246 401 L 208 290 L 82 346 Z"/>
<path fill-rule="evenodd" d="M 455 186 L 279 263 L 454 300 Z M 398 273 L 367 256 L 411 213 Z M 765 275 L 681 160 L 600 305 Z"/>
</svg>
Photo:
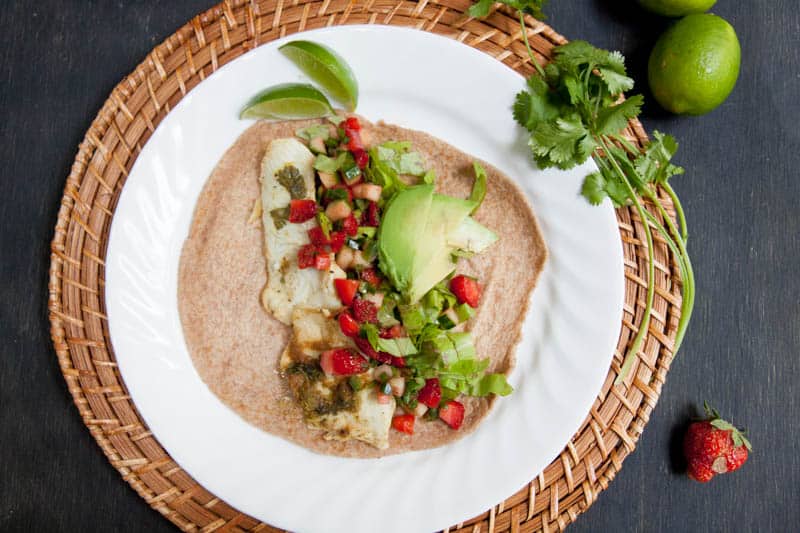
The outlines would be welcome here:
<svg viewBox="0 0 800 533">
<path fill-rule="evenodd" d="M 69 391 L 111 464 L 154 509 L 184 530 L 277 531 L 239 513 L 198 485 L 159 445 L 128 396 L 108 337 L 104 257 L 128 172 L 170 109 L 206 76 L 248 50 L 295 32 L 343 24 L 409 26 L 444 35 L 529 75 L 514 12 L 485 20 L 464 14 L 469 0 L 231 0 L 193 18 L 117 85 L 80 144 L 61 199 L 52 242 L 51 335 Z M 564 38 L 529 18 L 531 46 L 546 61 Z M 627 136 L 646 135 L 632 122 Z M 668 198 L 662 200 L 671 206 Z M 658 213 L 651 209 L 654 216 Z M 649 334 L 625 383 L 613 386 L 622 353 L 644 311 L 647 250 L 633 210 L 617 210 L 625 261 L 619 342 L 603 388 L 580 430 L 530 483 L 449 531 L 561 530 L 586 510 L 631 453 L 658 400 L 672 356 L 680 281 L 656 240 L 656 296 Z M 657 239 L 657 238 L 656 238 Z"/>
</svg>

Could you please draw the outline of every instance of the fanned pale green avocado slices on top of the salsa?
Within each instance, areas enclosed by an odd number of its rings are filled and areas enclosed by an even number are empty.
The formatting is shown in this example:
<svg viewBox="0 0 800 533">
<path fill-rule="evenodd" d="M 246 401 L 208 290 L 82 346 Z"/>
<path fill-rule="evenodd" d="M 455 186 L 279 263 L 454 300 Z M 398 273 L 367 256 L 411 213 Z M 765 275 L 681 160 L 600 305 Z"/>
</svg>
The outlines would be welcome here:
<svg viewBox="0 0 800 533">
<path fill-rule="evenodd" d="M 455 270 L 452 252 L 481 252 L 497 240 L 469 214 L 476 202 L 434 194 L 432 185 L 398 192 L 378 230 L 380 267 L 409 302 Z"/>
</svg>

